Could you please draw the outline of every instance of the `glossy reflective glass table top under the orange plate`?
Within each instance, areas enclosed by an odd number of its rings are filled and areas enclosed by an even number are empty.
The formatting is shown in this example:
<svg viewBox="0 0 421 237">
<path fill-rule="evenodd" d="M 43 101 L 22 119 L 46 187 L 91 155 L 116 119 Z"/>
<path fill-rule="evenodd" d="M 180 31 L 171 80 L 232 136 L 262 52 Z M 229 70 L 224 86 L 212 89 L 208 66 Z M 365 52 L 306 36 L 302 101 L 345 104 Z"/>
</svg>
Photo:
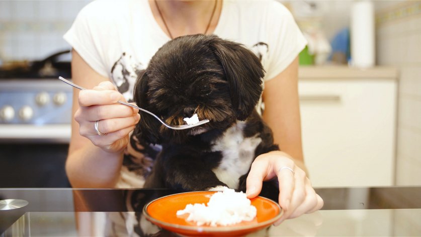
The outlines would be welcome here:
<svg viewBox="0 0 421 237">
<path fill-rule="evenodd" d="M 421 187 L 318 188 L 316 192 L 324 200 L 321 210 L 249 236 L 421 235 Z M 166 189 L 0 189 L 0 199 L 29 202 L 23 208 L 0 210 L 0 236 L 143 235 L 151 230 L 156 236 L 175 236 L 156 226 L 146 227 L 141 214 L 147 202 L 174 193 Z"/>
</svg>

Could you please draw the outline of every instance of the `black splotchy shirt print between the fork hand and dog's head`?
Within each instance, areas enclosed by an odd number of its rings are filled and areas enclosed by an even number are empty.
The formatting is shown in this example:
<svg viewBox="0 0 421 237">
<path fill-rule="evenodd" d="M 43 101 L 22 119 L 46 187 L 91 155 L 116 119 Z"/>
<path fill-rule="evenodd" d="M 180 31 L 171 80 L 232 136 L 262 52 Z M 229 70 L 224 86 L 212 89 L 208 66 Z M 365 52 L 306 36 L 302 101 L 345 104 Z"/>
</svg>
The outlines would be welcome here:
<svg viewBox="0 0 421 237">
<path fill-rule="evenodd" d="M 137 76 L 145 67 L 136 62 L 133 57 L 124 52 L 111 68 L 111 78 L 118 91 L 128 102 L 133 102 L 133 88 Z"/>
</svg>

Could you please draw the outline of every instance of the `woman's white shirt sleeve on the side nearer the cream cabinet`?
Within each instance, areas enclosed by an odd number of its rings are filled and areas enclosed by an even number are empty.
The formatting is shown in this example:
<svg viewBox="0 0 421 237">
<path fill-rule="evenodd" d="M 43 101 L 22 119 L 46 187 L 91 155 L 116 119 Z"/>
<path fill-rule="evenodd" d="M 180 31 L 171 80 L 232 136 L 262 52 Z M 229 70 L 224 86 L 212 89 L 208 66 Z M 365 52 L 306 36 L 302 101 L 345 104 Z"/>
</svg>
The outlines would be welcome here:
<svg viewBox="0 0 421 237">
<path fill-rule="evenodd" d="M 288 9 L 275 1 L 270 7 L 267 16 L 269 55 L 265 81 L 285 70 L 307 44 Z"/>
</svg>

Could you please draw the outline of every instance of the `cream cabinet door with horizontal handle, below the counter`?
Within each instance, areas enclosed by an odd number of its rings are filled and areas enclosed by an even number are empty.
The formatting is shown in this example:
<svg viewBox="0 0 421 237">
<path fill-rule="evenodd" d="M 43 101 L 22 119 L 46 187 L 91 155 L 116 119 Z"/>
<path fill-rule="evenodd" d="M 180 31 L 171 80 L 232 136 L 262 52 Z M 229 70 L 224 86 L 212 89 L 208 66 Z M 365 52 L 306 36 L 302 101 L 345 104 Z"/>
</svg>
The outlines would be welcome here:
<svg viewBox="0 0 421 237">
<path fill-rule="evenodd" d="M 304 159 L 316 187 L 393 184 L 394 80 L 299 82 Z"/>
</svg>

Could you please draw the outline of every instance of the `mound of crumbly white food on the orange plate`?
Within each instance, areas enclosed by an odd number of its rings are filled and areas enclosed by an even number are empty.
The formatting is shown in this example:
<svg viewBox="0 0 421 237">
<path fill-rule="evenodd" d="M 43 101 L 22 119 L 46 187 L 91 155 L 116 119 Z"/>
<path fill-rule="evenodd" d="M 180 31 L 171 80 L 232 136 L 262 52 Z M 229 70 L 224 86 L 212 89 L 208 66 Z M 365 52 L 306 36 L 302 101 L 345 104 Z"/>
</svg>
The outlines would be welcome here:
<svg viewBox="0 0 421 237">
<path fill-rule="evenodd" d="M 213 194 L 205 205 L 204 203 L 187 204 L 184 210 L 177 211 L 177 215 L 189 214 L 187 221 L 196 222 L 197 225 L 210 226 L 232 225 L 241 221 L 250 221 L 256 217 L 256 207 L 251 205 L 250 199 L 243 192 L 224 188 L 222 192 Z"/>
</svg>

